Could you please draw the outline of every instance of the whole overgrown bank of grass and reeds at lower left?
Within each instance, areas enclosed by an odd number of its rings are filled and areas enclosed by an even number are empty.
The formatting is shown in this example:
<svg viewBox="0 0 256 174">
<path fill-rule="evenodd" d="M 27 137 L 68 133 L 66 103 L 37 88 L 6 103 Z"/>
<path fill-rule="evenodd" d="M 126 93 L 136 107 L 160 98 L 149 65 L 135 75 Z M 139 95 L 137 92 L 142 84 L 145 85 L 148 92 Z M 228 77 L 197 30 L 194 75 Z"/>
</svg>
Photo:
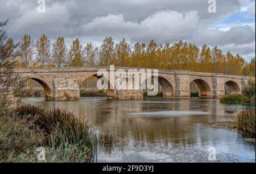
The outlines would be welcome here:
<svg viewBox="0 0 256 174">
<path fill-rule="evenodd" d="M 46 149 L 46 162 L 93 162 L 97 146 L 118 143 L 62 109 L 24 105 L 0 118 L 0 162 L 38 162 L 38 147 Z"/>
</svg>

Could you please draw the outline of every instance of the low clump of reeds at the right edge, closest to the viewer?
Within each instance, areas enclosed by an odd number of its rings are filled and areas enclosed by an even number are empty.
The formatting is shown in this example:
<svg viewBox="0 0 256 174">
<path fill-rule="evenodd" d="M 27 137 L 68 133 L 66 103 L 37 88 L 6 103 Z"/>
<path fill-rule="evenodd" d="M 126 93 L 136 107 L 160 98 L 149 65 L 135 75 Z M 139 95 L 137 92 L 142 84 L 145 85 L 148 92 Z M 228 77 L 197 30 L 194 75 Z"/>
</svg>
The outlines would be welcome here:
<svg viewBox="0 0 256 174">
<path fill-rule="evenodd" d="M 255 134 L 255 109 L 246 109 L 236 115 L 236 126 L 241 131 Z"/>
</svg>

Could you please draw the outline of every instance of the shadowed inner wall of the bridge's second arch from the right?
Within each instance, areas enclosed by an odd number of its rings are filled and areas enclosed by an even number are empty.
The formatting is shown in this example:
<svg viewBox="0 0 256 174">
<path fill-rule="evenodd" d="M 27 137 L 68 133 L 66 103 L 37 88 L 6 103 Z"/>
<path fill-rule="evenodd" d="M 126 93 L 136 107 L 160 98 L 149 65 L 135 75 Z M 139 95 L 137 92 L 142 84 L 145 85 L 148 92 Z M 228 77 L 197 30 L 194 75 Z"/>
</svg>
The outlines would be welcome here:
<svg viewBox="0 0 256 174">
<path fill-rule="evenodd" d="M 195 82 L 199 88 L 199 97 L 202 97 L 202 98 L 212 97 L 212 89 L 210 88 L 210 85 L 208 84 L 207 81 L 197 78 L 195 80 L 192 80 L 190 83 L 192 82 Z"/>
</svg>

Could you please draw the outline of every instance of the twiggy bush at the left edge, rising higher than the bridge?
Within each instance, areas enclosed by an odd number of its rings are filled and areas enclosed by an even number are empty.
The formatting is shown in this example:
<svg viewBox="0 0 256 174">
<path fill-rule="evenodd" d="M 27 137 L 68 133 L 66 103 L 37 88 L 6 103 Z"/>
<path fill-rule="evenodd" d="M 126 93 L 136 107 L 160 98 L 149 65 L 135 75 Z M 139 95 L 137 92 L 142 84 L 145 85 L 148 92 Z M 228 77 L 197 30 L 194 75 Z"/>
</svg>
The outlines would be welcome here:
<svg viewBox="0 0 256 174">
<path fill-rule="evenodd" d="M 6 31 L 3 30 L 7 22 L 0 22 L 0 116 L 9 110 L 9 106 L 13 103 L 10 101 L 11 94 L 22 89 L 24 81 L 27 80 L 14 73 L 23 46 L 20 43 L 14 44 L 13 39 L 8 38 Z"/>
</svg>

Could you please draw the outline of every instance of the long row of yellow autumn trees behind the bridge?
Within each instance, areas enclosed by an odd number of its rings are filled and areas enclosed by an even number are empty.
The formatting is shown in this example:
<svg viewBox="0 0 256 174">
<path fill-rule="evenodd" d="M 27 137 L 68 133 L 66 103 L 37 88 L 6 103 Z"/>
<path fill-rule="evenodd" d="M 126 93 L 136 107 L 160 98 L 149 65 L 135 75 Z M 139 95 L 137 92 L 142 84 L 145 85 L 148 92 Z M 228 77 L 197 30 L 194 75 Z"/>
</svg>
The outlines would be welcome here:
<svg viewBox="0 0 256 174">
<path fill-rule="evenodd" d="M 6 44 L 14 44 L 12 39 Z M 79 39 L 72 42 L 68 49 L 63 37 L 51 42 L 42 35 L 34 44 L 31 36 L 24 35 L 22 55 L 19 57 L 20 68 L 45 67 L 119 67 L 156 68 L 184 70 L 207 73 L 225 73 L 255 77 L 255 57 L 246 62 L 240 55 L 230 52 L 224 54 L 217 46 L 201 48 L 187 42 L 174 44 L 156 44 L 154 40 L 146 43 L 135 43 L 130 47 L 125 39 L 119 43 L 109 37 L 100 47 L 92 43 L 82 46 Z"/>
</svg>

